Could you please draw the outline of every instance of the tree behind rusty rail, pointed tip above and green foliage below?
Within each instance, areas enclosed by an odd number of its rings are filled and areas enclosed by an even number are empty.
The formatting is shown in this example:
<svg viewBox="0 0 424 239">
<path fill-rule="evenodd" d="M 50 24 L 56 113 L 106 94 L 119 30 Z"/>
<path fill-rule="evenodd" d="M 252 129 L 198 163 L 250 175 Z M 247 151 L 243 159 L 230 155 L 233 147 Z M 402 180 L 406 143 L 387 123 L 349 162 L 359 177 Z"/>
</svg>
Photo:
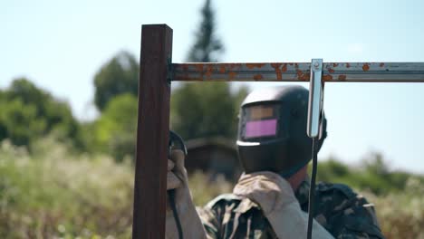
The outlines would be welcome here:
<svg viewBox="0 0 424 239">
<path fill-rule="evenodd" d="M 224 46 L 216 35 L 215 12 L 207 0 L 188 62 L 217 62 Z M 181 84 L 171 99 L 171 129 L 185 139 L 203 137 L 236 138 L 237 113 L 246 97 L 246 86 L 232 91 L 227 82 Z"/>
</svg>

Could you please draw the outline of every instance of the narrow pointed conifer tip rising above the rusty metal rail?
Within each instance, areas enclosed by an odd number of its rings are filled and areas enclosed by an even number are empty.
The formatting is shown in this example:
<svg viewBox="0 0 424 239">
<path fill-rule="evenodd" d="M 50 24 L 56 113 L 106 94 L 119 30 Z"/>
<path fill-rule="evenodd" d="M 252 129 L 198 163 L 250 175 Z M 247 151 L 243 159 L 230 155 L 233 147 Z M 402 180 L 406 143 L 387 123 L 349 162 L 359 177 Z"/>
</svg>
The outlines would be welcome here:
<svg viewBox="0 0 424 239">
<path fill-rule="evenodd" d="M 188 53 L 188 62 L 217 62 L 218 55 L 224 52 L 224 46 L 215 33 L 215 12 L 210 0 L 202 7 L 201 14 L 202 22 Z"/>
</svg>

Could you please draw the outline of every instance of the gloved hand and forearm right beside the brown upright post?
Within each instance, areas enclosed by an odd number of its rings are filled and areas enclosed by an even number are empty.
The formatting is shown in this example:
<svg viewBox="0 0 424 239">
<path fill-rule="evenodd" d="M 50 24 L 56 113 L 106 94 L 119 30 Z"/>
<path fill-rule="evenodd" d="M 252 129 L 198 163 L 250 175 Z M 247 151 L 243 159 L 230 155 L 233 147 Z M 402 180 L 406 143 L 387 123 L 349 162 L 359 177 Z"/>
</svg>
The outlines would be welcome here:
<svg viewBox="0 0 424 239">
<path fill-rule="evenodd" d="M 174 190 L 175 206 L 183 238 L 207 238 L 196 207 L 191 200 L 187 171 L 184 167 L 184 153 L 181 150 L 172 150 L 170 160 L 168 160 L 167 189 Z M 166 238 L 178 239 L 176 218 L 173 215 L 169 198 L 167 201 Z"/>
</svg>

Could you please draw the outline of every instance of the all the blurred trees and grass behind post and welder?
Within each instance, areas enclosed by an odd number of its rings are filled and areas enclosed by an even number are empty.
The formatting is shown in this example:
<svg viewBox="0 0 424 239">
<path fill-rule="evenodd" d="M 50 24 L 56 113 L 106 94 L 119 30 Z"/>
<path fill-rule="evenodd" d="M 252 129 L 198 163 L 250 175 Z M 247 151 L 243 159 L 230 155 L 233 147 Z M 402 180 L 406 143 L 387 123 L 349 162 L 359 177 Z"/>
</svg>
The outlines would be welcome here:
<svg viewBox="0 0 424 239">
<path fill-rule="evenodd" d="M 206 1 L 188 62 L 224 51 Z M 27 78 L 0 90 L 0 238 L 130 238 L 139 62 L 119 52 L 95 74 L 99 117 L 80 121 L 66 100 Z M 227 82 L 172 87 L 170 127 L 184 139 L 236 139 L 248 89 Z M 424 238 L 424 177 L 396 171 L 381 153 L 358 165 L 320 160 L 318 179 L 345 183 L 376 205 L 387 238 Z M 231 192 L 224 177 L 190 176 L 198 206 Z M 207 185 L 207 190 L 204 190 Z"/>
</svg>

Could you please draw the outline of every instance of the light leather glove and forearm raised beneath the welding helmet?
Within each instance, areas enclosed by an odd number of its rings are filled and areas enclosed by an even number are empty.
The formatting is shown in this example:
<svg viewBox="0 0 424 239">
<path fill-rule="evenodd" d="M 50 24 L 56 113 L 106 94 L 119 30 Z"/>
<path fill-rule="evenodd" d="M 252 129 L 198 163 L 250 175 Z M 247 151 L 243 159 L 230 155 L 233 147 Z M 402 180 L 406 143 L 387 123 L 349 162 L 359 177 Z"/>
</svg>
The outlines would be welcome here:
<svg viewBox="0 0 424 239">
<path fill-rule="evenodd" d="M 278 238 L 306 238 L 308 215 L 302 211 L 290 184 L 272 172 L 257 172 L 240 177 L 234 194 L 246 196 L 261 206 Z M 333 238 L 313 220 L 312 238 Z"/>
</svg>

